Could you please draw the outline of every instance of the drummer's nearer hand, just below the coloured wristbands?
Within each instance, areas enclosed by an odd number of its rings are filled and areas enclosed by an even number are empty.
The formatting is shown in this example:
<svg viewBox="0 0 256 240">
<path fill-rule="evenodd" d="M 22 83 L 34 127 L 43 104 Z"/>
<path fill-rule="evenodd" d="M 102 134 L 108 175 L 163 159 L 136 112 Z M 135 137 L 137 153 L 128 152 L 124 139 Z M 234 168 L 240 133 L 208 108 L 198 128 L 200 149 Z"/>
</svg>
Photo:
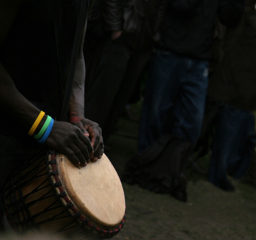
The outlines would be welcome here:
<svg viewBox="0 0 256 240">
<path fill-rule="evenodd" d="M 47 147 L 63 153 L 76 166 L 85 167 L 93 155 L 93 146 L 90 139 L 80 128 L 68 122 L 54 121 L 48 139 Z"/>
</svg>

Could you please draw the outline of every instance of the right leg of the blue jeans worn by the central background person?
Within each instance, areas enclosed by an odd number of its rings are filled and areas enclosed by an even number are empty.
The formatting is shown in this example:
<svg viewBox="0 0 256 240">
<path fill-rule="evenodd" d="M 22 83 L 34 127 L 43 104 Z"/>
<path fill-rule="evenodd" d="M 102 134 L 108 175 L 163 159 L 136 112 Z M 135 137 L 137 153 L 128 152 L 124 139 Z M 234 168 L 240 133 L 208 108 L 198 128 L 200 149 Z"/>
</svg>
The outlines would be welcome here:
<svg viewBox="0 0 256 240">
<path fill-rule="evenodd" d="M 172 134 L 196 144 L 202 128 L 208 88 L 208 61 L 186 60 L 185 72 L 173 113 L 175 124 Z"/>
</svg>

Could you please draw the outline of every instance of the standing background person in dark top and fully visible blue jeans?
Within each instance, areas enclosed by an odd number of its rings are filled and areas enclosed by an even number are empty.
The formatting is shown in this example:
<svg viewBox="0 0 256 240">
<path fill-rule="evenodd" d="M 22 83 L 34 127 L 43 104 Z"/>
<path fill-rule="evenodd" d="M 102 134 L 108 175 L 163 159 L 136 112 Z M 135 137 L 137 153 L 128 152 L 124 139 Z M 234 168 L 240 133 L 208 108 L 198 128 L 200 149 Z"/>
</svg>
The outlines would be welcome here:
<svg viewBox="0 0 256 240">
<path fill-rule="evenodd" d="M 239 21 L 243 1 L 168 3 L 145 87 L 138 156 L 132 162 L 136 176 L 133 168 L 128 174 L 149 190 L 185 202 L 182 173 L 202 127 L 215 19 L 225 25 Z"/>
</svg>

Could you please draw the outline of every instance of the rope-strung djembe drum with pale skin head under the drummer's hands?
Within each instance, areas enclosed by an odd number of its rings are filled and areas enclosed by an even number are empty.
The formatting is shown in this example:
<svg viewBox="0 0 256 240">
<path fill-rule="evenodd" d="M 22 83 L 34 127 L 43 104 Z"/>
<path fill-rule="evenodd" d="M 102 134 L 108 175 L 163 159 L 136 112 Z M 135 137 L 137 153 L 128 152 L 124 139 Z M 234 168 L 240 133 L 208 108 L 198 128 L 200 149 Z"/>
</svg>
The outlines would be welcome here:
<svg viewBox="0 0 256 240">
<path fill-rule="evenodd" d="M 105 239 L 123 227 L 126 206 L 121 181 L 103 154 L 75 167 L 53 151 L 25 166 L 4 190 L 5 219 L 17 233 L 45 232 L 71 239 Z"/>
</svg>

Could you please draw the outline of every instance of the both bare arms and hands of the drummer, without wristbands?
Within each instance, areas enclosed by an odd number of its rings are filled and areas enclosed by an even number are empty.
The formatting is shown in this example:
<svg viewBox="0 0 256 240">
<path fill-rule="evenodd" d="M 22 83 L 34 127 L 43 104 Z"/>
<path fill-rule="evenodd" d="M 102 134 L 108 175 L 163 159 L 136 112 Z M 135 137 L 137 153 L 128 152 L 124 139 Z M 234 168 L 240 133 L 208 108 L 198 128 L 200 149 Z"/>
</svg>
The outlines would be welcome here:
<svg viewBox="0 0 256 240">
<path fill-rule="evenodd" d="M 19 5 L 22 2 L 24 1 L 0 1 L 0 44 L 7 38 Z M 81 39 L 82 42 L 83 39 Z M 83 55 L 80 51 L 72 89 L 71 104 L 69 106 L 71 123 L 54 121 L 50 136 L 45 141 L 47 147 L 65 154 L 77 166 L 85 166 L 86 162 L 90 159 L 97 161 L 103 154 L 103 140 L 99 126 L 95 122 L 84 118 L 84 69 Z M 25 128 L 26 131 L 29 131 L 41 112 L 40 109 L 20 94 L 13 79 L 11 79 L 11 76 L 1 63 L 0 104 L 5 112 L 15 118 L 17 123 Z M 38 129 L 42 127 L 45 119 L 46 116 L 42 119 Z M 93 149 L 95 150 L 93 151 Z"/>
</svg>

